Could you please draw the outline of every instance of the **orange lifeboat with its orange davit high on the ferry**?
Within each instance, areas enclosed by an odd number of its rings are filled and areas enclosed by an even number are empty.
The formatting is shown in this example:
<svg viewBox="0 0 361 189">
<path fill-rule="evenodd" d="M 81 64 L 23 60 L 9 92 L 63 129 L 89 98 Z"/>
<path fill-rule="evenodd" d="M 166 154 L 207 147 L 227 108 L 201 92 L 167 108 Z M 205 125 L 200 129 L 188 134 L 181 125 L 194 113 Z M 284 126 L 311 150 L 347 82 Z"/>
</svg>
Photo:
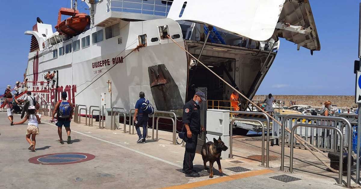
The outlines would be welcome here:
<svg viewBox="0 0 361 189">
<path fill-rule="evenodd" d="M 71 17 L 61 21 L 61 15 L 70 15 Z M 85 13 L 79 13 L 79 10 L 61 8 L 58 13 L 58 22 L 55 26 L 56 31 L 67 36 L 78 35 L 90 23 L 90 16 Z"/>
</svg>

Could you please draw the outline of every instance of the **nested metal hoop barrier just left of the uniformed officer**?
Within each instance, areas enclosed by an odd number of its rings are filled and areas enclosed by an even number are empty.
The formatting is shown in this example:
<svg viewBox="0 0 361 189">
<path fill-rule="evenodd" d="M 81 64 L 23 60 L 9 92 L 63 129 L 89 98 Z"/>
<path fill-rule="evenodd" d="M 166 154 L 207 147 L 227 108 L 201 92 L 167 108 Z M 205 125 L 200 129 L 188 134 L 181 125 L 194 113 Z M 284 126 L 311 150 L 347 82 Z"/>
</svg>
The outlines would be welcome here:
<svg viewBox="0 0 361 189">
<path fill-rule="evenodd" d="M 156 114 L 162 114 L 162 115 L 169 115 L 168 117 L 166 116 L 158 116 L 156 122 L 155 121 L 155 117 Z M 154 111 L 153 114 L 153 120 L 152 120 L 152 140 L 154 140 L 154 124 L 156 124 L 156 140 L 158 140 L 158 129 L 159 129 L 159 119 L 163 118 L 163 119 L 168 119 L 171 120 L 173 123 L 173 136 L 172 136 L 172 144 L 176 145 L 177 144 L 177 116 L 175 115 L 174 112 L 166 112 L 166 111 Z"/>
</svg>

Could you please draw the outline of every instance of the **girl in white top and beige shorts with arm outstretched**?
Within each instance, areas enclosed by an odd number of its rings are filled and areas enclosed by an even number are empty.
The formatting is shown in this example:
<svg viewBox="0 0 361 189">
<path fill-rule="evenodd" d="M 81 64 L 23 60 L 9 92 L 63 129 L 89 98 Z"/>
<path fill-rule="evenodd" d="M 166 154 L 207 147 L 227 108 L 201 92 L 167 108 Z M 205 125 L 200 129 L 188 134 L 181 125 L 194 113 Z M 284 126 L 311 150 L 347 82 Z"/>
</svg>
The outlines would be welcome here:
<svg viewBox="0 0 361 189">
<path fill-rule="evenodd" d="M 35 152 L 35 137 L 37 134 L 39 134 L 39 123 L 40 123 L 40 117 L 38 114 L 36 114 L 35 106 L 31 105 L 29 106 L 29 110 L 27 112 L 26 117 L 21 121 L 14 123 L 14 125 L 20 125 L 25 123 L 26 120 L 29 120 L 27 123 L 27 130 L 26 130 L 26 141 L 30 144 L 30 147 L 28 148 L 32 152 Z M 30 135 L 31 140 L 30 140 Z"/>
</svg>

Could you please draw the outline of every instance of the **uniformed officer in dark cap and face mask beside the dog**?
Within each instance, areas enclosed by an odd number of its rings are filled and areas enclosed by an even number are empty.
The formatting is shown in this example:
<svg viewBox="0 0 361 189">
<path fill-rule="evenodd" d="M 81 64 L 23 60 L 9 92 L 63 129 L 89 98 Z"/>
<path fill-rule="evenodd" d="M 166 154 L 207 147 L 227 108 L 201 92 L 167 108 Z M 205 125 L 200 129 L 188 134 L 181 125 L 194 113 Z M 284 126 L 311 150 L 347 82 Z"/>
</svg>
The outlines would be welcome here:
<svg viewBox="0 0 361 189">
<path fill-rule="evenodd" d="M 183 172 L 186 176 L 199 177 L 200 175 L 193 170 L 193 159 L 196 154 L 198 134 L 204 131 L 200 123 L 199 105 L 205 101 L 204 93 L 197 91 L 193 99 L 184 104 L 183 107 L 183 131 L 186 132 L 186 152 L 184 152 Z"/>
</svg>

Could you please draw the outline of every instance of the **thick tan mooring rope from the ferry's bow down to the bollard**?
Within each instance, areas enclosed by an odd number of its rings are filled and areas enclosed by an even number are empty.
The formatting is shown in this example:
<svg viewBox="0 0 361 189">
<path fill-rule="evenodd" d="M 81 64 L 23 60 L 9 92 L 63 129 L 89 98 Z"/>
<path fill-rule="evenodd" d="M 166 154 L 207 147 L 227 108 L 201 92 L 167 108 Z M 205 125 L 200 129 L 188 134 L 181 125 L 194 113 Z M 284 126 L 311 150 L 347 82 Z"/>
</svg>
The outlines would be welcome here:
<svg viewBox="0 0 361 189">
<path fill-rule="evenodd" d="M 214 73 L 210 68 L 208 68 L 205 64 L 203 64 L 199 59 L 197 59 L 196 57 L 194 57 L 190 52 L 188 52 L 186 49 L 184 49 L 181 45 L 179 45 L 174 39 L 172 39 L 169 35 L 168 39 L 170 39 L 171 41 L 173 41 L 175 44 L 177 44 L 179 46 L 179 48 L 181 48 L 182 50 L 184 50 L 187 54 L 189 54 L 192 58 L 194 58 L 195 60 L 197 60 L 197 62 L 199 62 L 200 64 L 202 64 L 202 66 L 204 66 L 206 69 L 208 69 L 211 73 L 213 73 L 213 75 L 215 75 L 216 77 L 219 78 L 219 80 L 223 81 L 226 85 L 228 85 L 229 87 L 231 87 L 231 89 L 233 89 L 234 91 L 236 91 L 238 94 L 240 94 L 244 99 L 246 99 L 249 103 L 251 103 L 252 105 L 254 105 L 257 109 L 259 109 L 261 112 L 265 113 L 268 117 L 270 117 L 274 122 L 276 122 L 277 124 L 279 124 L 280 126 L 282 126 L 282 123 L 280 123 L 279 121 L 277 121 L 274 117 L 272 117 L 270 114 L 268 114 L 266 111 L 264 111 L 262 108 L 260 108 L 257 104 L 255 104 L 254 102 L 252 102 L 252 100 L 248 99 L 245 95 L 243 95 L 241 92 L 239 92 L 237 89 L 235 89 L 235 87 L 233 87 L 232 85 L 230 85 L 227 81 L 223 80 L 223 78 L 219 77 L 216 73 Z M 271 49 L 272 50 L 272 49 Z M 291 130 L 288 129 L 287 127 L 284 127 L 284 129 L 291 133 Z M 317 152 L 321 153 L 323 156 L 327 157 L 327 155 L 325 153 L 323 153 L 321 150 L 319 150 L 318 148 L 316 148 L 314 145 L 310 144 L 308 141 L 304 140 L 303 138 L 301 138 L 299 135 L 294 134 L 293 135 L 295 137 L 295 139 L 297 141 L 299 141 L 300 144 L 302 144 L 309 152 L 311 152 L 319 161 L 322 162 L 323 165 L 325 165 L 327 168 L 329 168 L 332 172 L 336 172 L 338 173 L 338 170 L 335 170 L 334 168 L 330 167 L 329 165 L 327 165 L 327 163 L 325 161 L 323 161 L 319 156 L 317 156 L 316 153 L 314 153 L 310 147 L 314 150 L 316 150 Z M 232 137 L 232 136 L 230 136 Z M 327 157 L 328 158 L 328 157 Z"/>
</svg>

